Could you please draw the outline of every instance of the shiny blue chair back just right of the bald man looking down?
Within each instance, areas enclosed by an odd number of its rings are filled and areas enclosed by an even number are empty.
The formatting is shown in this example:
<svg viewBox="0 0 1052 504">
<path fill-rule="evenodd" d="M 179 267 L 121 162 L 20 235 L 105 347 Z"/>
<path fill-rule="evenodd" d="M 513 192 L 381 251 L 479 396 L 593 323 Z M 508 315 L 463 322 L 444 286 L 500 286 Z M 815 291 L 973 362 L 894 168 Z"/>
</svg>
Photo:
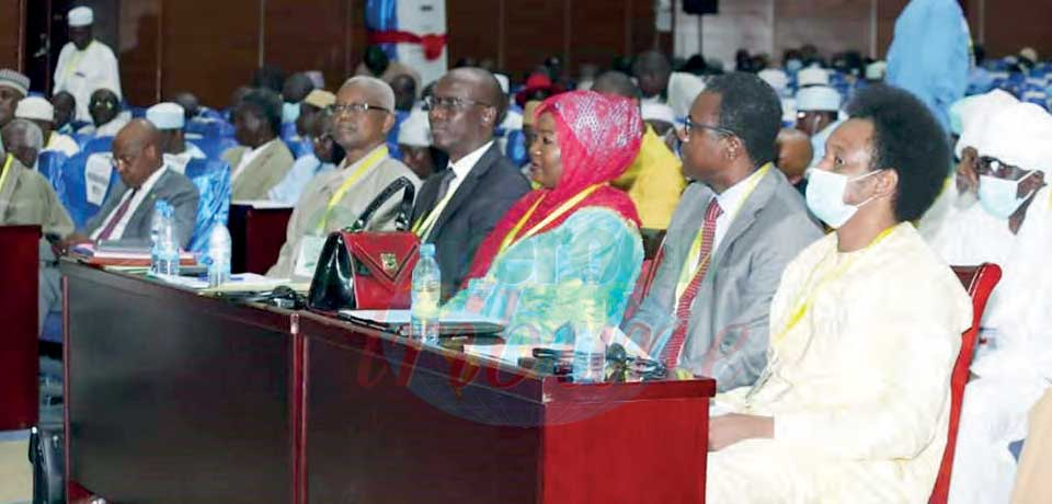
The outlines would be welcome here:
<svg viewBox="0 0 1052 504">
<path fill-rule="evenodd" d="M 186 176 L 197 186 L 201 196 L 187 250 L 206 252 L 211 228 L 216 222 L 227 226 L 230 216 L 230 165 L 225 161 L 194 159 L 186 164 Z"/>
</svg>

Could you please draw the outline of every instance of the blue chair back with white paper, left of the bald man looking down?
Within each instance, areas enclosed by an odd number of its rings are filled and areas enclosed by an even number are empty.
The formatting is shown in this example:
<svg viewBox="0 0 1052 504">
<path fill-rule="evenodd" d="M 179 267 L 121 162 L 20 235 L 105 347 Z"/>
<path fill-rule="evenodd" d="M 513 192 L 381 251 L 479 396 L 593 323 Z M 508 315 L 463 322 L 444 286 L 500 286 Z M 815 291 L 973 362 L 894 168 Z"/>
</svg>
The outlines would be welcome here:
<svg viewBox="0 0 1052 504">
<path fill-rule="evenodd" d="M 119 179 L 110 165 L 111 159 L 110 152 L 80 151 L 62 164 L 55 193 L 77 229 L 83 229 L 88 219 L 99 213 Z"/>
</svg>

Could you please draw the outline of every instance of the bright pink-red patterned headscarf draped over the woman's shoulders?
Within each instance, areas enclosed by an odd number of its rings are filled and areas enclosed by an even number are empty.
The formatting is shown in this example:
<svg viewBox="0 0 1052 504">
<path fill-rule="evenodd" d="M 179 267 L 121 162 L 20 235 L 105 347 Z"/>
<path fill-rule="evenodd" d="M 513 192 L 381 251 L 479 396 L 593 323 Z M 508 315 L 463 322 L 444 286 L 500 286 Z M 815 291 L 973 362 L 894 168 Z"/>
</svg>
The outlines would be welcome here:
<svg viewBox="0 0 1052 504">
<path fill-rule="evenodd" d="M 552 190 L 539 188 L 523 196 L 504 218 L 496 224 L 474 255 L 465 283 L 485 276 L 500 250 L 504 237 L 515 227 L 538 198 L 544 201 L 530 215 L 522 232 L 533 228 L 556 208 L 588 186 L 609 184 L 617 179 L 639 153 L 643 125 L 639 106 L 620 96 L 606 96 L 594 91 L 572 91 L 546 100 L 535 117 L 550 113 L 556 119 L 556 133 L 562 156 L 562 177 Z M 574 211 L 585 207 L 609 208 L 639 227 L 636 205 L 624 192 L 604 185 L 540 232 L 550 231 Z M 538 232 L 539 234 L 539 232 Z"/>
</svg>

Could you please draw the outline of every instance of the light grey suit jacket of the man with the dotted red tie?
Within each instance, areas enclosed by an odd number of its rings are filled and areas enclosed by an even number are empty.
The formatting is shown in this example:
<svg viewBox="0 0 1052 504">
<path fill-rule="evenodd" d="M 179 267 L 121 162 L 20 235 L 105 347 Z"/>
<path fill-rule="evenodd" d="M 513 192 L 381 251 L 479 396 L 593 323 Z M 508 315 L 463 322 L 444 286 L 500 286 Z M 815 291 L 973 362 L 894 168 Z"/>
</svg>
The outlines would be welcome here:
<svg viewBox="0 0 1052 504">
<path fill-rule="evenodd" d="M 664 259 L 653 286 L 639 313 L 626 325 L 633 339 L 656 341 L 654 351 L 675 328 L 679 271 L 713 196 L 712 190 L 698 183 L 684 192 L 668 226 Z M 800 193 L 779 170 L 769 170 L 743 203 L 712 256 L 690 306 L 678 366 L 716 378 L 720 391 L 756 381 L 767 364 L 770 300 L 782 270 L 821 237 Z M 642 327 L 647 332 L 639 332 Z"/>
</svg>

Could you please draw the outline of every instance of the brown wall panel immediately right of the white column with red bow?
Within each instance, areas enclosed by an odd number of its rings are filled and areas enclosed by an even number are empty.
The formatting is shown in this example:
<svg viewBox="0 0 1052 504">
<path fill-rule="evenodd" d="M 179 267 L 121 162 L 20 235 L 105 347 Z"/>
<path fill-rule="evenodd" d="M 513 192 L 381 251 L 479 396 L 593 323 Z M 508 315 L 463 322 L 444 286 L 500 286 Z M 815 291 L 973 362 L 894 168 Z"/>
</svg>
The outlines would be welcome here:
<svg viewBox="0 0 1052 504">
<path fill-rule="evenodd" d="M 501 62 L 506 0 L 446 0 L 448 57 L 453 66 L 460 58 Z"/>
</svg>

